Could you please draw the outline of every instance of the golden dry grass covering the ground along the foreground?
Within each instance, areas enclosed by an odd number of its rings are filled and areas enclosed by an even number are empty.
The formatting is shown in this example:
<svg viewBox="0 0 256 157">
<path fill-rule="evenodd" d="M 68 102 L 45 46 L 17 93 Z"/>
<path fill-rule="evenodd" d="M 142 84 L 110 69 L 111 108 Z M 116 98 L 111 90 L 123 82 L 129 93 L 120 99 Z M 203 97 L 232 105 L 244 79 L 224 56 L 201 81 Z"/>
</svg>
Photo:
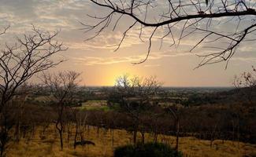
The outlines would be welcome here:
<svg viewBox="0 0 256 157">
<path fill-rule="evenodd" d="M 113 156 L 113 150 L 117 146 L 132 143 L 131 133 L 127 133 L 124 130 L 114 131 L 114 142 L 112 146 L 112 135 L 109 130 L 100 130 L 97 134 L 97 130 L 94 127 L 86 133 L 84 137 L 86 140 L 95 142 L 95 146 L 87 145 L 84 147 L 78 146 L 76 149 L 72 148 L 72 140 L 68 143 L 65 139 L 65 148 L 63 151 L 60 150 L 57 134 L 48 133 L 49 136 L 42 140 L 39 137 L 39 133 L 36 133 L 32 140 L 21 139 L 20 143 L 13 143 L 9 146 L 7 156 L 10 157 L 28 157 L 28 156 L 59 156 L 59 157 L 74 157 L 74 156 Z M 146 141 L 152 141 L 150 134 L 147 134 Z M 175 137 L 169 137 L 159 135 L 158 141 L 168 143 L 171 145 L 175 144 Z M 195 137 L 181 137 L 180 138 L 180 151 L 184 153 L 184 156 L 256 156 L 256 145 L 255 144 L 244 144 L 241 142 L 232 141 L 214 141 L 213 147 L 210 148 L 210 141 L 198 140 Z"/>
</svg>

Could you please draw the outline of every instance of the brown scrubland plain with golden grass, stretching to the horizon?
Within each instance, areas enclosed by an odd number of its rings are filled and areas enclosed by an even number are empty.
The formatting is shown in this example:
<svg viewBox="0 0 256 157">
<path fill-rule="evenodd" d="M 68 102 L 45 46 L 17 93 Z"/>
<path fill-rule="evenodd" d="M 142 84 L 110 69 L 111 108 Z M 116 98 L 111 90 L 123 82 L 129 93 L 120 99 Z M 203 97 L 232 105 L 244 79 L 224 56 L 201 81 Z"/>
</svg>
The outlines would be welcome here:
<svg viewBox="0 0 256 157">
<path fill-rule="evenodd" d="M 169 100 L 161 98 L 161 93 L 159 97 L 146 97 L 147 106 L 139 104 L 143 101 L 135 96 L 124 98 L 129 104 L 124 106 L 122 97 L 110 89 L 90 99 L 81 94 L 63 107 L 63 123 L 58 124 L 63 125 L 63 150 L 59 130 L 55 128 L 58 108 L 43 94 L 32 95 L 21 107 L 17 106 L 17 111 L 12 110 L 17 119 L 9 130 L 6 156 L 110 157 L 117 147 L 143 141 L 141 133 L 145 133 L 145 142 L 154 141 L 157 135 L 158 142 L 175 148 L 176 137 L 167 134 L 176 134 L 176 119 L 166 109 L 179 116 L 179 151 L 184 157 L 256 156 L 254 105 L 236 102 L 239 95 L 186 91 L 165 91 L 169 92 Z M 179 99 L 180 94 L 185 97 Z M 76 142 L 85 140 L 95 145 L 78 145 L 75 149 L 75 134 Z"/>
</svg>

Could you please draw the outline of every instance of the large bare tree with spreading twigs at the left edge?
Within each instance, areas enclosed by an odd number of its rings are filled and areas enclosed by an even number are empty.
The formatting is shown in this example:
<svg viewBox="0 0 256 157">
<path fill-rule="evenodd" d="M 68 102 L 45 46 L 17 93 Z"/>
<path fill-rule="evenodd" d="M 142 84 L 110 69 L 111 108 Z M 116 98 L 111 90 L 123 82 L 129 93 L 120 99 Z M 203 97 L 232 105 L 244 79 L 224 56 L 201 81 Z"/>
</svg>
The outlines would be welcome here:
<svg viewBox="0 0 256 157">
<path fill-rule="evenodd" d="M 3 32 L 6 32 L 8 27 Z M 58 31 L 50 33 L 33 27 L 32 34 L 17 38 L 17 42 L 10 46 L 6 44 L 0 53 L 0 115 L 1 115 L 1 155 L 5 155 L 6 143 L 9 139 L 9 122 L 13 98 L 24 92 L 20 87 L 28 82 L 32 76 L 49 68 L 54 68 L 63 60 L 52 60 L 55 54 L 66 48 L 55 37 Z"/>
</svg>

